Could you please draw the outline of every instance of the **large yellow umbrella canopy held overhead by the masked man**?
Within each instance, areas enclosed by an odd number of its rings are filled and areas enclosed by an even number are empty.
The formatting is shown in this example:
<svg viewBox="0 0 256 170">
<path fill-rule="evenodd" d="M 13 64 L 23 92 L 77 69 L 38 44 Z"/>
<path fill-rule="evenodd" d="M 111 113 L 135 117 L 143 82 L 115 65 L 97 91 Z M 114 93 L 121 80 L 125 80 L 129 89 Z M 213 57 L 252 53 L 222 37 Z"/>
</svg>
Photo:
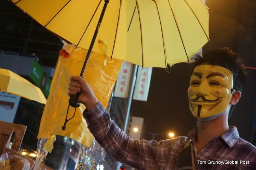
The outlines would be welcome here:
<svg viewBox="0 0 256 170">
<path fill-rule="evenodd" d="M 104 0 L 11 0 L 46 29 L 89 49 Z M 110 0 L 93 51 L 144 67 L 187 61 L 209 40 L 200 0 Z"/>
</svg>

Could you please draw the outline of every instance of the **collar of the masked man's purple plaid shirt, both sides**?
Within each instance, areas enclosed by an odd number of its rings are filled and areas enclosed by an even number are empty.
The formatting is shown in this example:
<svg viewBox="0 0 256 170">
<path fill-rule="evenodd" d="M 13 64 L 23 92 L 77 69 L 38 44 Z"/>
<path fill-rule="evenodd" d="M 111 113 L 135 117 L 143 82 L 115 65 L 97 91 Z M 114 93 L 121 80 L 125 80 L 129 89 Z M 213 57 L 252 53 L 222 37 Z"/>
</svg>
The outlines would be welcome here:
<svg viewBox="0 0 256 170">
<path fill-rule="evenodd" d="M 189 131 L 189 133 L 187 134 L 187 137 L 195 143 L 196 135 L 197 135 L 197 127 Z M 229 126 L 229 131 L 224 133 L 220 137 L 230 148 L 232 148 L 234 144 L 236 144 L 236 141 L 239 139 L 239 134 L 235 126 Z"/>
</svg>

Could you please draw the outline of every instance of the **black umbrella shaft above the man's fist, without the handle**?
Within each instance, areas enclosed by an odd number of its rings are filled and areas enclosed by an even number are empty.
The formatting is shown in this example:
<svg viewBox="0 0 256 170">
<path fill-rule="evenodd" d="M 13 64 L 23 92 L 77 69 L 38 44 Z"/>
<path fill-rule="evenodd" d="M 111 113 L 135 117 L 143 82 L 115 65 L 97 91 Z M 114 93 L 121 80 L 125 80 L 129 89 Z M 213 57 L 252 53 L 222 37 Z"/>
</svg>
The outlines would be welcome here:
<svg viewBox="0 0 256 170">
<path fill-rule="evenodd" d="M 83 67 L 82 67 L 82 70 L 81 70 L 81 73 L 80 73 L 80 76 L 81 76 L 81 77 L 83 77 L 83 73 L 84 73 L 84 70 L 85 70 L 85 66 L 86 66 L 86 64 L 87 64 L 87 62 L 88 62 L 88 60 L 89 60 L 89 57 L 90 57 L 90 55 L 91 55 L 91 51 L 93 50 L 93 45 L 94 45 L 94 43 L 95 43 L 95 40 L 96 40 L 96 37 L 97 37 L 97 34 L 98 34 L 98 30 L 100 29 L 100 24 L 101 24 L 101 22 L 102 22 L 102 19 L 103 19 L 104 13 L 105 13 L 105 11 L 106 11 L 107 5 L 108 5 L 108 3 L 109 3 L 109 0 L 105 0 L 104 2 L 105 2 L 105 3 L 104 3 L 104 6 L 103 6 L 103 8 L 102 8 L 102 11 L 101 11 L 100 18 L 99 18 L 99 20 L 98 20 L 98 24 L 97 24 L 97 27 L 96 27 L 96 29 L 95 29 L 94 35 L 93 35 L 93 39 L 91 40 L 90 47 L 89 47 L 89 49 L 88 49 L 87 55 L 86 55 L 86 57 L 85 57 L 85 61 L 84 61 L 84 63 L 83 63 Z"/>
</svg>

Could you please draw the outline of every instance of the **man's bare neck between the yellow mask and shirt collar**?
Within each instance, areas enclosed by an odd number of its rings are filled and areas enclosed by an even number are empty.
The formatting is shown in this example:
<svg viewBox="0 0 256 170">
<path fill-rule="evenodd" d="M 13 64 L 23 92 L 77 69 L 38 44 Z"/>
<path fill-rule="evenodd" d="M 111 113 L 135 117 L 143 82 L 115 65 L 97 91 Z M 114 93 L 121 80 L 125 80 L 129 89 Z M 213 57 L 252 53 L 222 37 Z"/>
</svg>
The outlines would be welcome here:
<svg viewBox="0 0 256 170">
<path fill-rule="evenodd" d="M 228 113 L 224 112 L 211 121 L 198 119 L 196 145 L 198 153 L 211 139 L 228 132 Z"/>
</svg>

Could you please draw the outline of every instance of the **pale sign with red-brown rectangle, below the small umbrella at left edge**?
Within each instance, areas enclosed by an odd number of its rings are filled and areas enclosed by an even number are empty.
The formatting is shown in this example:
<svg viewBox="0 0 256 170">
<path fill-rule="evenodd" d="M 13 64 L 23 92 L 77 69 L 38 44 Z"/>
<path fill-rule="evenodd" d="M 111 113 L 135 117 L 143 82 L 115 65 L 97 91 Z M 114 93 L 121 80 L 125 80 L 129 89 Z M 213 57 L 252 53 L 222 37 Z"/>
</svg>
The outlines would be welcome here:
<svg viewBox="0 0 256 170">
<path fill-rule="evenodd" d="M 20 96 L 0 91 L 0 121 L 13 123 Z"/>
</svg>

